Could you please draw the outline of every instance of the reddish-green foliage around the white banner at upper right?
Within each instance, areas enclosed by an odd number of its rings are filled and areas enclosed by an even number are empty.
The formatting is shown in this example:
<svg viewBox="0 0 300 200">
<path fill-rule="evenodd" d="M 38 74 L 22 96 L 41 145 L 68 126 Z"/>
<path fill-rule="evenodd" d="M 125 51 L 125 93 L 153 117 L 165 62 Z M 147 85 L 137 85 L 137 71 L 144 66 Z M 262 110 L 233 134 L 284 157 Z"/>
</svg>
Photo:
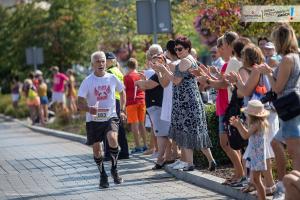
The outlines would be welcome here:
<svg viewBox="0 0 300 200">
<path fill-rule="evenodd" d="M 230 14 L 220 16 L 223 11 L 227 13 L 231 11 L 239 11 L 243 5 L 295 5 L 299 3 L 298 0 L 227 0 L 227 1 L 213 1 L 205 0 L 198 4 L 198 15 L 196 20 L 202 16 L 202 14 L 208 10 L 212 11 L 210 16 L 212 19 L 204 20 L 202 23 L 203 28 L 210 30 L 212 35 L 221 36 L 225 31 L 236 31 L 240 35 L 257 38 L 257 37 L 270 37 L 273 27 L 276 23 L 273 22 L 248 22 L 244 23 L 240 21 L 239 12 L 236 14 Z M 198 23 L 197 23 L 198 24 Z M 296 34 L 299 37 L 300 23 L 291 23 L 296 30 Z M 196 26 L 197 29 L 197 26 Z M 198 30 L 199 31 L 199 30 Z M 201 36 L 201 34 L 199 34 Z M 201 40 L 206 42 L 208 37 L 201 36 Z"/>
</svg>

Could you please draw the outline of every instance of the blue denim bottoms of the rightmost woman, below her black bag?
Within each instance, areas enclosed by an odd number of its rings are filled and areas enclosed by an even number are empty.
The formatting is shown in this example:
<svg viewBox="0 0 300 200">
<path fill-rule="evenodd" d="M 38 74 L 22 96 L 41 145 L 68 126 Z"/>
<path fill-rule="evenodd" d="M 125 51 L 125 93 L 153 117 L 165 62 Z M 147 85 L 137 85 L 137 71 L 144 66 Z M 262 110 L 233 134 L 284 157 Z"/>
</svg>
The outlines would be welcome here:
<svg viewBox="0 0 300 200">
<path fill-rule="evenodd" d="M 286 139 L 300 138 L 300 115 L 288 121 L 279 119 L 279 131 L 275 135 L 278 141 Z"/>
</svg>

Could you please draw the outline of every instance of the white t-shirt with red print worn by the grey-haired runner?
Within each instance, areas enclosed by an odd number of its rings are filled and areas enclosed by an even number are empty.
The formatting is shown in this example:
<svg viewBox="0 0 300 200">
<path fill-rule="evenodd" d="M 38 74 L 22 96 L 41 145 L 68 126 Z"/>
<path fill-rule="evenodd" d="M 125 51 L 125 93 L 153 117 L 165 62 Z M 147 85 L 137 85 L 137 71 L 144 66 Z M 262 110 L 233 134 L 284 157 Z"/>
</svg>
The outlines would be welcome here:
<svg viewBox="0 0 300 200">
<path fill-rule="evenodd" d="M 105 73 L 98 77 L 94 73 L 86 77 L 78 90 L 78 96 L 87 100 L 88 106 L 98 108 L 96 115 L 86 113 L 86 122 L 108 121 L 112 117 L 118 117 L 116 112 L 115 92 L 124 90 L 124 85 L 113 74 Z"/>
</svg>

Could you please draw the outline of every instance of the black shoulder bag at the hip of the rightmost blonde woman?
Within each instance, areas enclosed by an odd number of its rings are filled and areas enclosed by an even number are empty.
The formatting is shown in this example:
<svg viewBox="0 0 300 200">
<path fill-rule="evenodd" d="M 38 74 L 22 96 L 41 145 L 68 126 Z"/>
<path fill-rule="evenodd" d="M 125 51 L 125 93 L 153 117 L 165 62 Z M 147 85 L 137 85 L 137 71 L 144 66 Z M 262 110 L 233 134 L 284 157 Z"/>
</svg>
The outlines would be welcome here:
<svg viewBox="0 0 300 200">
<path fill-rule="evenodd" d="M 293 91 L 273 101 L 278 117 L 288 121 L 300 115 L 300 91 Z"/>
</svg>

